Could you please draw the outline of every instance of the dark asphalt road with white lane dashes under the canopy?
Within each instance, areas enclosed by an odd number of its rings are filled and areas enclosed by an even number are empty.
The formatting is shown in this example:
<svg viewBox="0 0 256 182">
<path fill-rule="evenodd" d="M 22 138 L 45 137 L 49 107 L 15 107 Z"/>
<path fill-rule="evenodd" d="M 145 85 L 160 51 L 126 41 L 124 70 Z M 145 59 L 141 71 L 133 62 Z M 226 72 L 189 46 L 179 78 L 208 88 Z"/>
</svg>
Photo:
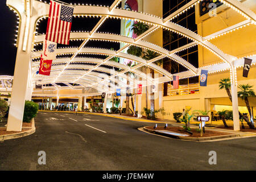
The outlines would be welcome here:
<svg viewBox="0 0 256 182">
<path fill-rule="evenodd" d="M 39 112 L 36 132 L 0 143 L 0 170 L 255 170 L 256 138 L 189 142 L 147 134 L 152 125 L 93 114 Z M 46 165 L 38 152 L 46 152 Z M 217 164 L 210 165 L 209 151 Z"/>
</svg>

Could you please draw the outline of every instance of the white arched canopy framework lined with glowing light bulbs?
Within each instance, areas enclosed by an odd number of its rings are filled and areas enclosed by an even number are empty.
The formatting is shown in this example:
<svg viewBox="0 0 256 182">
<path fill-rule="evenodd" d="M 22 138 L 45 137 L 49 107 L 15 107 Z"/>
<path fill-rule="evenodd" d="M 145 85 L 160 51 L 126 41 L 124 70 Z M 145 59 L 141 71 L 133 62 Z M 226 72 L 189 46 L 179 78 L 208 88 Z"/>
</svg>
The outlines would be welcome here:
<svg viewBox="0 0 256 182">
<path fill-rule="evenodd" d="M 19 0 L 13 0 L 13 1 L 19 1 Z M 246 19 L 250 20 L 250 23 L 255 24 L 255 21 L 256 21 L 255 13 L 253 13 L 253 11 L 247 9 L 247 7 L 243 6 L 241 2 L 239 2 L 237 0 L 220 0 L 220 1 L 224 2 L 225 5 L 228 5 L 229 7 L 231 7 L 232 9 L 236 10 L 238 13 L 243 15 Z M 10 2 L 10 0 L 9 0 L 9 2 Z M 201 69 L 197 69 L 197 68 L 193 67 L 193 65 L 191 65 L 187 61 L 181 59 L 181 57 L 175 55 L 175 53 L 173 51 L 168 52 L 166 49 L 155 46 L 154 44 L 151 44 L 151 43 L 143 42 L 141 40 L 142 38 L 144 38 L 145 36 L 150 34 L 152 31 L 155 31 L 157 28 L 164 28 L 164 29 L 176 32 L 177 34 L 183 35 L 184 37 L 193 40 L 194 45 L 199 44 L 199 45 L 209 49 L 209 51 L 213 52 L 215 55 L 220 57 L 221 60 L 228 63 L 229 67 L 232 68 L 232 72 L 233 72 L 233 69 L 234 69 L 234 63 L 233 62 L 234 62 L 234 60 L 237 60 L 236 57 L 225 54 L 220 49 L 218 49 L 216 46 L 214 46 L 212 43 L 208 42 L 208 39 L 202 38 L 200 35 L 195 34 L 195 32 L 192 32 L 192 31 L 188 30 L 187 28 L 181 27 L 178 24 L 175 24 L 175 23 L 172 23 L 172 22 L 169 21 L 172 18 L 175 18 L 176 16 L 178 16 L 180 13 L 183 13 L 185 10 L 189 9 L 190 7 L 195 6 L 196 3 L 200 2 L 200 0 L 191 1 L 190 3 L 181 7 L 174 14 L 171 14 L 170 16 L 168 16 L 165 19 L 156 17 L 154 15 L 138 13 L 138 12 L 135 12 L 135 11 L 115 9 L 115 7 L 118 5 L 119 2 L 121 2 L 121 1 L 120 0 L 115 0 L 114 3 L 112 4 L 112 6 L 110 6 L 110 7 L 76 6 L 76 8 L 74 9 L 74 16 L 100 16 L 101 19 L 97 23 L 97 25 L 93 28 L 92 31 L 90 31 L 90 32 L 77 32 L 77 33 L 72 33 L 71 34 L 71 39 L 85 39 L 84 42 L 81 44 L 81 46 L 79 48 L 64 48 L 64 49 L 58 49 L 57 50 L 58 53 L 60 53 L 60 54 L 61 53 L 73 53 L 73 56 L 67 62 L 65 62 L 65 60 L 62 59 L 64 61 L 64 63 L 67 63 L 64 67 L 56 66 L 56 69 L 61 69 L 61 71 L 56 71 L 56 73 L 59 74 L 57 76 L 57 78 L 61 77 L 61 75 L 63 73 L 65 73 L 65 69 L 70 67 L 69 63 L 73 63 L 73 62 L 76 63 L 76 59 L 77 59 L 76 56 L 77 56 L 78 53 L 95 53 L 95 54 L 108 55 L 109 57 L 107 57 L 107 59 L 105 59 L 105 60 L 98 61 L 97 65 L 94 68 L 88 69 L 89 72 L 85 71 L 84 75 L 80 76 L 78 79 L 76 79 L 74 81 L 75 83 L 81 82 L 80 79 L 85 80 L 84 78 L 91 75 L 93 70 L 97 71 L 97 69 L 100 69 L 101 68 L 100 65 L 102 65 L 102 64 L 106 64 L 106 65 L 111 65 L 112 64 L 114 67 L 125 69 L 125 71 L 123 71 L 121 73 L 114 73 L 113 76 L 110 76 L 108 78 L 102 78 L 103 81 L 106 81 L 107 79 L 113 78 L 115 76 L 123 76 L 124 73 L 126 73 L 128 71 L 129 72 L 134 72 L 138 76 L 143 77 L 144 76 L 143 73 L 142 72 L 139 73 L 138 70 L 136 70 L 137 68 L 141 67 L 142 65 L 146 65 L 147 67 L 153 68 L 153 69 L 155 69 L 155 71 L 158 71 L 159 73 L 161 73 L 165 76 L 165 77 L 159 78 L 159 80 L 170 81 L 170 80 L 172 80 L 172 75 L 169 72 L 165 71 L 163 68 L 158 67 L 157 65 L 155 65 L 153 63 L 154 61 L 162 59 L 163 57 L 170 57 L 170 59 L 175 60 L 178 63 L 180 63 L 181 65 L 184 65 L 186 68 L 188 68 L 189 71 L 186 72 L 183 75 L 186 75 L 188 77 L 191 76 L 191 75 L 199 75 L 199 71 Z M 43 2 L 34 1 L 33 6 L 36 7 L 40 3 L 43 3 Z M 45 6 L 46 11 L 45 12 L 48 12 L 49 5 L 48 4 L 44 4 L 44 5 L 46 5 Z M 14 7 L 14 9 L 15 9 L 15 7 Z M 18 12 L 18 14 L 19 14 L 19 12 Z M 36 12 L 32 16 L 31 22 L 35 22 L 34 27 L 36 27 L 36 24 L 39 22 L 39 20 L 42 19 L 42 18 L 46 18 L 47 16 L 48 16 L 48 14 L 42 14 L 42 13 Z M 130 20 L 135 20 L 137 22 L 143 22 L 143 23 L 150 24 L 150 25 L 152 25 L 152 27 L 136 39 L 126 38 L 126 37 L 121 36 L 121 35 L 96 33 L 98 28 L 101 26 L 102 23 L 104 23 L 104 21 L 107 18 L 130 19 Z M 36 36 L 34 43 L 39 43 L 42 40 L 43 40 L 42 36 Z M 105 50 L 105 49 L 83 48 L 85 46 L 85 44 L 88 42 L 88 40 L 109 40 L 109 41 L 113 41 L 113 42 L 123 42 L 123 43 L 126 43 L 128 45 L 128 46 L 125 46 L 124 48 L 129 47 L 130 45 L 135 45 L 135 46 L 151 49 L 152 51 L 158 52 L 161 55 L 159 57 L 156 57 L 156 59 L 146 61 L 146 60 L 143 60 L 139 57 L 122 53 L 121 52 L 122 49 L 119 49 L 118 51 L 115 52 L 115 51 L 110 51 L 110 50 Z M 118 63 L 115 63 L 115 65 L 113 63 L 110 64 L 111 61 L 109 61 L 109 59 L 111 59 L 114 56 L 125 57 L 126 59 L 137 61 L 140 64 L 136 65 L 134 68 L 125 68 L 123 65 L 118 64 Z M 59 62 L 59 61 L 60 60 L 56 60 L 56 63 Z M 78 62 L 81 62 L 81 59 L 77 60 L 77 63 Z M 84 62 L 85 63 L 86 62 L 92 63 L 92 61 L 84 61 Z M 55 63 L 55 62 L 53 62 L 53 63 Z M 95 63 L 96 63 L 96 61 L 95 61 Z M 74 67 L 74 65 L 72 65 L 70 68 L 72 68 L 72 67 Z M 79 66 L 76 65 L 76 67 L 79 67 Z M 84 65 L 82 65 L 82 67 L 84 67 Z M 53 72 L 55 72 L 55 71 L 53 70 Z M 54 77 L 54 75 L 52 75 L 52 77 Z M 52 77 L 48 77 L 49 80 L 51 80 Z M 234 77 L 234 73 L 233 73 L 233 77 Z M 36 78 L 38 78 L 38 77 L 36 77 Z M 40 78 L 43 78 L 43 77 L 40 77 Z M 53 80 L 53 82 L 60 81 L 57 78 L 55 78 L 55 80 Z M 75 77 L 73 76 L 73 78 L 76 78 L 76 76 Z M 102 81 L 96 82 L 96 84 L 100 84 L 101 82 Z"/>
</svg>

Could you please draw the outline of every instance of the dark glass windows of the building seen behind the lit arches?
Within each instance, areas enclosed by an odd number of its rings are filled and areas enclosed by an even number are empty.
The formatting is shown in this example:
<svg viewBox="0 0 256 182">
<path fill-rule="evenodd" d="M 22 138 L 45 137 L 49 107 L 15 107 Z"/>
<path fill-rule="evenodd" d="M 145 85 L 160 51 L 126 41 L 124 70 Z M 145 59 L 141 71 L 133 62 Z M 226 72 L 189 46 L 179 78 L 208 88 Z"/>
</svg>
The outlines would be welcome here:
<svg viewBox="0 0 256 182">
<path fill-rule="evenodd" d="M 190 1 L 191 0 L 163 0 L 163 18 L 166 18 L 170 14 L 174 13 L 176 10 L 180 9 Z M 180 26 L 188 28 L 189 30 L 197 33 L 195 7 L 192 7 L 188 11 L 185 11 L 183 14 L 172 19 L 172 22 L 177 23 Z M 163 31 L 163 48 L 168 49 L 168 51 L 172 51 L 176 48 L 185 46 L 186 44 L 189 44 L 191 42 L 192 40 L 185 38 L 184 36 L 175 34 L 174 32 L 166 30 Z M 198 68 L 199 63 L 197 46 L 177 52 L 176 55 L 182 57 L 184 60 L 191 63 L 194 67 Z M 171 74 L 188 71 L 188 69 L 183 67 L 183 65 L 168 58 L 163 60 L 163 68 Z M 177 90 L 173 89 L 172 81 L 164 83 L 164 96 L 191 94 L 198 91 L 199 77 L 180 79 L 180 89 Z"/>
</svg>

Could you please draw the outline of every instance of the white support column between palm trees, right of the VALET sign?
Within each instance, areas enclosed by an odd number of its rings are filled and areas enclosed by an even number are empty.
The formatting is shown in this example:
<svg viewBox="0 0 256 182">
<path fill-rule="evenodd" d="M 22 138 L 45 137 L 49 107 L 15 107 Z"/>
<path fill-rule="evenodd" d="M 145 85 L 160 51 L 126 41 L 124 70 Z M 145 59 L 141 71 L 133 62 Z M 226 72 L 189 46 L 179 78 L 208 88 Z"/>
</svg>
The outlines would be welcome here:
<svg viewBox="0 0 256 182">
<path fill-rule="evenodd" d="M 231 84 L 231 94 L 232 94 L 234 131 L 240 131 L 240 120 L 239 120 L 239 114 L 238 114 L 237 86 L 234 85 L 234 84 Z"/>
</svg>

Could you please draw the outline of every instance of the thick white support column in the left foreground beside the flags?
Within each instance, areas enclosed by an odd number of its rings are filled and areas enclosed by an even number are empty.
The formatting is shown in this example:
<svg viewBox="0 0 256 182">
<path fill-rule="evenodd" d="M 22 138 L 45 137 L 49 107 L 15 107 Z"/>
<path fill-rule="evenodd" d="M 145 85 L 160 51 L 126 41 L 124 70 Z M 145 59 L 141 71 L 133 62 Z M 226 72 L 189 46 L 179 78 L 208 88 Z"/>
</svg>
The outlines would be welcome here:
<svg viewBox="0 0 256 182">
<path fill-rule="evenodd" d="M 11 104 L 7 121 L 7 131 L 21 131 L 24 113 L 24 103 L 28 89 L 28 79 L 30 70 L 32 36 L 34 23 L 29 24 L 28 38 L 25 36 L 27 16 L 25 12 L 21 14 L 19 28 L 19 43 L 16 54 L 14 69 L 13 90 L 11 92 Z M 30 16 L 30 14 L 28 14 Z M 27 42 L 26 51 L 23 51 L 23 43 Z"/>
</svg>

